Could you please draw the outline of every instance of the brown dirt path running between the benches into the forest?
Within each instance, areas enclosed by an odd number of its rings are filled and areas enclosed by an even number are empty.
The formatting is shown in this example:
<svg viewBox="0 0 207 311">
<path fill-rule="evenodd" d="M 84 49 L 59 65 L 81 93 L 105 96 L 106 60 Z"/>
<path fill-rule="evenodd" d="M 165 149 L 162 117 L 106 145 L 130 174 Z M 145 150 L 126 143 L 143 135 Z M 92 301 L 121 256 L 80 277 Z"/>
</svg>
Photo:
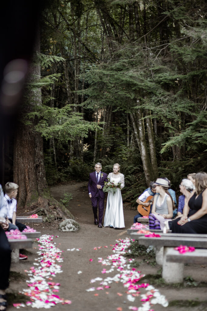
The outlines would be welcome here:
<svg viewBox="0 0 207 311">
<path fill-rule="evenodd" d="M 81 230 L 79 230 L 79 232 L 60 232 L 58 230 L 46 228 L 44 224 L 36 226 L 35 228 L 40 230 L 42 234 L 54 235 L 53 243 L 56 243 L 56 247 L 63 251 L 63 262 L 61 262 L 61 269 L 63 272 L 56 274 L 56 276 L 53 277 L 53 281 L 61 284 L 58 295 L 64 297 L 64 299 L 70 299 L 72 303 L 70 305 L 57 304 L 52 307 L 51 310 L 126 311 L 129 310 L 129 306 L 139 307 L 142 305 L 140 296 L 136 297 L 134 302 L 129 301 L 126 293 L 127 288 L 125 288 L 120 281 L 113 280 L 109 284 L 110 288 L 105 288 L 103 285 L 100 285 L 101 281 L 91 283 L 91 280 L 94 280 L 97 277 L 105 279 L 107 277 L 113 277 L 118 273 L 117 270 L 114 269 L 111 273 L 103 274 L 103 269 L 109 270 L 112 266 L 102 265 L 103 261 L 101 261 L 100 258 L 107 259 L 108 256 L 114 254 L 112 248 L 113 245 L 117 243 L 116 240 L 128 237 L 127 228 L 130 228 L 133 223 L 135 211 L 124 209 L 125 229 L 123 230 L 104 227 L 98 228 L 93 224 L 91 201 L 88 197 L 86 184 L 86 182 L 70 183 L 51 188 L 51 193 L 57 200 L 60 199 L 64 191 L 73 193 L 73 200 L 70 201 L 70 211 L 81 225 Z M 29 268 L 34 265 L 35 258 L 37 258 L 36 252 L 38 246 L 37 244 L 34 245 L 36 248 L 31 250 L 27 261 L 20 262 L 18 267 L 11 267 L 12 271 L 18 271 L 22 274 L 22 279 L 19 281 L 12 279 L 9 292 L 15 292 L 27 288 L 25 280 L 28 276 L 26 276 L 25 270 L 29 270 Z M 74 251 L 71 251 L 73 248 Z M 97 249 L 94 250 L 94 248 Z M 70 251 L 68 249 L 70 249 Z M 89 261 L 89 259 L 92 259 L 92 261 Z M 144 274 L 156 274 L 159 269 L 160 267 L 157 265 L 151 267 L 143 262 L 140 262 L 138 268 L 138 270 L 142 271 Z M 185 276 L 192 276 L 193 279 L 197 281 L 206 281 L 206 272 L 206 266 L 200 267 L 193 265 L 185 267 Z M 101 286 L 103 286 L 103 290 L 86 291 L 89 288 L 95 287 L 95 289 L 97 289 L 97 287 Z M 206 300 L 206 287 L 173 289 L 160 286 L 156 288 L 159 289 L 161 295 L 166 296 L 168 301 L 176 299 Z M 140 291 L 141 294 L 146 294 L 145 289 L 141 289 Z M 7 308 L 7 310 L 15 309 L 16 308 L 13 306 Z M 32 310 L 29 306 L 20 309 L 26 311 Z M 153 305 L 151 309 L 154 311 L 184 311 L 187 309 L 190 311 L 207 310 L 204 305 L 192 308 L 189 306 L 164 308 L 160 304 Z M 40 308 L 39 310 L 45 309 Z"/>
</svg>

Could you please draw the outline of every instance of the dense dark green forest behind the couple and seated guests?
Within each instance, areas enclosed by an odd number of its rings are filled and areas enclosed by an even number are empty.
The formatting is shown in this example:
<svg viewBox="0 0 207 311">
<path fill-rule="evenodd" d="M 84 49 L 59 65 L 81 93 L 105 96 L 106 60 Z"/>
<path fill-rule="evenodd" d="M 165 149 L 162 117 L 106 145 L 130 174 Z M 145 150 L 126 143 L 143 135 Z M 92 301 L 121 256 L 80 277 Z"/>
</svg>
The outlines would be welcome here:
<svg viewBox="0 0 207 311">
<path fill-rule="evenodd" d="M 20 205 L 97 161 L 120 164 L 130 202 L 158 176 L 178 190 L 207 171 L 206 29 L 203 0 L 50 2 L 4 142 Z"/>
</svg>

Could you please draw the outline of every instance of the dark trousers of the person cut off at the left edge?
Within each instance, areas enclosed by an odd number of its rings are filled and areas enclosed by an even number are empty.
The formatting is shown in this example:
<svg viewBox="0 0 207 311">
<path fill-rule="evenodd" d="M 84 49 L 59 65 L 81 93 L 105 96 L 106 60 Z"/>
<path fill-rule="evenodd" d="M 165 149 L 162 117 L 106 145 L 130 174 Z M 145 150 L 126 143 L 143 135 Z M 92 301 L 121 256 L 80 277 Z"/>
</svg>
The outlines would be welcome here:
<svg viewBox="0 0 207 311">
<path fill-rule="evenodd" d="M 9 270 L 11 264 L 11 248 L 5 231 L 0 226 L 0 290 L 9 286 Z"/>
</svg>

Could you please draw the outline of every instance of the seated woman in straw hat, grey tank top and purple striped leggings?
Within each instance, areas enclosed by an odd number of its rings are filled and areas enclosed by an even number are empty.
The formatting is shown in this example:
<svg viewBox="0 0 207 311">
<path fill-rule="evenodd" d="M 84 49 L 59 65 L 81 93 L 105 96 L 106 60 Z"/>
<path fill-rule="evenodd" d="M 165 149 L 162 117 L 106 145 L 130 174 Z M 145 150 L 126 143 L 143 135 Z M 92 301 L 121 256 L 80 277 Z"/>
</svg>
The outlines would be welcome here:
<svg viewBox="0 0 207 311">
<path fill-rule="evenodd" d="M 173 216 L 174 202 L 168 192 L 169 182 L 164 178 L 155 181 L 156 194 L 152 206 L 152 213 L 149 215 L 150 229 L 164 229 L 166 219 Z"/>
</svg>

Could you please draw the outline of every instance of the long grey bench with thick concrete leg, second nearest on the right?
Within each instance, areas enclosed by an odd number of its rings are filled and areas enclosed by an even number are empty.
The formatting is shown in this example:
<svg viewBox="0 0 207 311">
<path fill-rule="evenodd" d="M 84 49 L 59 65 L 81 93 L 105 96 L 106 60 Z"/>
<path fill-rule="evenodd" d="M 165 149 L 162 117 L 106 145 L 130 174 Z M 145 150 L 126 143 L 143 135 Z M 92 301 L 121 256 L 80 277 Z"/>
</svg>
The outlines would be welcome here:
<svg viewBox="0 0 207 311">
<path fill-rule="evenodd" d="M 174 236 L 174 235 L 177 235 L 177 236 Z M 161 248 L 162 246 L 164 247 L 162 277 L 166 283 L 183 282 L 183 270 L 184 270 L 183 262 L 167 261 L 168 252 L 172 251 L 174 247 L 178 247 L 181 244 L 186 245 L 186 246 L 193 246 L 196 248 L 207 248 L 206 234 L 187 234 L 187 235 L 188 235 L 187 237 L 184 236 L 184 234 L 178 236 L 178 234 L 174 233 L 174 234 L 162 234 L 160 238 L 149 238 L 143 235 L 138 238 L 138 243 L 141 245 L 147 245 L 147 246 L 153 245 L 158 248 Z M 157 249 L 156 249 L 156 252 L 157 252 Z M 157 255 L 158 254 L 156 254 L 156 261 L 157 261 Z M 160 257 L 162 257 L 161 253 L 160 253 Z"/>
</svg>

